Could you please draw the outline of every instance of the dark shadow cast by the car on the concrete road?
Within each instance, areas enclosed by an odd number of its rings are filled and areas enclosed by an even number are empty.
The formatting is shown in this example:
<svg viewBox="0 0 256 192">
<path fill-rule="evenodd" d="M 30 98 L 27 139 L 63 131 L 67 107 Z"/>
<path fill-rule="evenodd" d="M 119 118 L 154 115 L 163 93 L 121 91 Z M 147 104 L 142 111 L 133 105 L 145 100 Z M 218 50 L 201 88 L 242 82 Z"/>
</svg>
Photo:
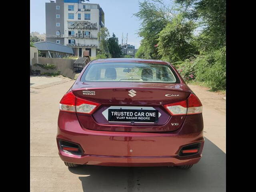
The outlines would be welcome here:
<svg viewBox="0 0 256 192">
<path fill-rule="evenodd" d="M 86 192 L 222 192 L 226 191 L 226 154 L 205 138 L 202 159 L 190 170 L 176 167 L 79 166 Z"/>
</svg>

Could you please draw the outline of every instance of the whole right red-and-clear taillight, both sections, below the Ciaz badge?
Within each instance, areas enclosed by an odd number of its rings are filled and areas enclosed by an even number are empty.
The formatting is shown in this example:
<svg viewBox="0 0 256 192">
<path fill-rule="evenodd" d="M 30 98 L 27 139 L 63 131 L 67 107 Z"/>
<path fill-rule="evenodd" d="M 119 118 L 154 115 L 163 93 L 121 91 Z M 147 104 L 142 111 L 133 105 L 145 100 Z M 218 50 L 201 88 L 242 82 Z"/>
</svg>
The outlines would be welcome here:
<svg viewBox="0 0 256 192">
<path fill-rule="evenodd" d="M 190 94 L 188 97 L 188 103 L 186 100 L 184 100 L 176 103 L 166 104 L 164 107 L 172 116 L 202 113 L 202 103 L 194 94 Z"/>
</svg>

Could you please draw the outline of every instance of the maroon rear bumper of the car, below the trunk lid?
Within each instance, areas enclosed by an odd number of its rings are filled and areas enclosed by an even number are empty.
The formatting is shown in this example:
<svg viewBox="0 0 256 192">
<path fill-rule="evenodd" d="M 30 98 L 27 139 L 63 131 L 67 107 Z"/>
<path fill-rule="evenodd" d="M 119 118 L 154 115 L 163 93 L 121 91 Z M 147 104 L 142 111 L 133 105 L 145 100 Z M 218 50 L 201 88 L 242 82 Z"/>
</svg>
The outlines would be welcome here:
<svg viewBox="0 0 256 192">
<path fill-rule="evenodd" d="M 182 128 L 172 133 L 114 132 L 82 128 L 75 114 L 69 117 L 68 121 L 58 121 L 57 144 L 58 140 L 74 142 L 81 146 L 84 154 L 63 152 L 58 144 L 60 158 L 65 162 L 101 166 L 180 166 L 195 164 L 202 157 L 203 129 L 191 125 L 190 121 L 185 120 Z M 196 155 L 178 156 L 183 146 L 198 142 L 201 147 Z"/>
</svg>

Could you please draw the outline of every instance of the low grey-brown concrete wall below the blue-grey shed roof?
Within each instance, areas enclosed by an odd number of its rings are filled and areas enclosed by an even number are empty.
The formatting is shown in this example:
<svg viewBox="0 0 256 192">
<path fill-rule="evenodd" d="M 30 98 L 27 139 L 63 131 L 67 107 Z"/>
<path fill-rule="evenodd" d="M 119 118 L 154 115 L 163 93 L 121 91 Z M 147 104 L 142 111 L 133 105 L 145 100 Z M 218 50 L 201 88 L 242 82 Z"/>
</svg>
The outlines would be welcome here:
<svg viewBox="0 0 256 192">
<path fill-rule="evenodd" d="M 38 64 L 46 65 L 53 64 L 56 66 L 56 69 L 44 69 L 40 66 L 35 66 L 36 60 L 32 59 L 32 70 L 40 70 L 41 74 L 43 73 L 54 73 L 60 71 L 60 74 L 69 78 L 74 79 L 75 72 L 74 72 L 74 62 L 75 59 L 61 59 L 61 58 L 45 58 L 45 57 L 38 57 Z"/>
</svg>

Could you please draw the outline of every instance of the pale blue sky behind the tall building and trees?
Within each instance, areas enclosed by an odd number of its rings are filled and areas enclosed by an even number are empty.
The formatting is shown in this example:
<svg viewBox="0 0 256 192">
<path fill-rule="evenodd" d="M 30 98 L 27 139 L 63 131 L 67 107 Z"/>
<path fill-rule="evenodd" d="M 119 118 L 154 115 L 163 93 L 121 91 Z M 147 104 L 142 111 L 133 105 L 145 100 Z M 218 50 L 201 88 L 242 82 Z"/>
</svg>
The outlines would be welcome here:
<svg viewBox="0 0 256 192">
<path fill-rule="evenodd" d="M 142 1 L 142 0 L 141 0 Z M 45 33 L 45 3 L 49 0 L 30 0 L 30 32 Z M 86 1 L 87 2 L 87 1 Z M 170 3 L 170 0 L 165 0 Z M 110 35 L 118 37 L 119 42 L 128 33 L 128 44 L 139 48 L 141 38 L 136 34 L 140 28 L 140 21 L 132 14 L 139 10 L 139 0 L 90 0 L 99 4 L 105 13 L 105 26 Z"/>
</svg>

